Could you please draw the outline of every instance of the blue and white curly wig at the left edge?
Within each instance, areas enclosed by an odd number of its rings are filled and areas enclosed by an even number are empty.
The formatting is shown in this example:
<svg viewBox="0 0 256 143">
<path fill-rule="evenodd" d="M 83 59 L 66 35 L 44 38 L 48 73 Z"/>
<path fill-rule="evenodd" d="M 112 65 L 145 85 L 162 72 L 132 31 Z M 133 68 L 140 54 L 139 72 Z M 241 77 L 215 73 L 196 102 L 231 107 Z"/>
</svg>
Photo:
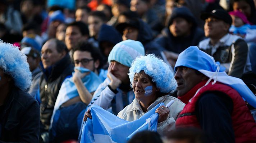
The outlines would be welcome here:
<svg viewBox="0 0 256 143">
<path fill-rule="evenodd" d="M 27 56 L 17 46 L 0 40 L 0 68 L 10 75 L 16 87 L 25 90 L 31 86 L 32 73 L 29 70 Z"/>
</svg>

